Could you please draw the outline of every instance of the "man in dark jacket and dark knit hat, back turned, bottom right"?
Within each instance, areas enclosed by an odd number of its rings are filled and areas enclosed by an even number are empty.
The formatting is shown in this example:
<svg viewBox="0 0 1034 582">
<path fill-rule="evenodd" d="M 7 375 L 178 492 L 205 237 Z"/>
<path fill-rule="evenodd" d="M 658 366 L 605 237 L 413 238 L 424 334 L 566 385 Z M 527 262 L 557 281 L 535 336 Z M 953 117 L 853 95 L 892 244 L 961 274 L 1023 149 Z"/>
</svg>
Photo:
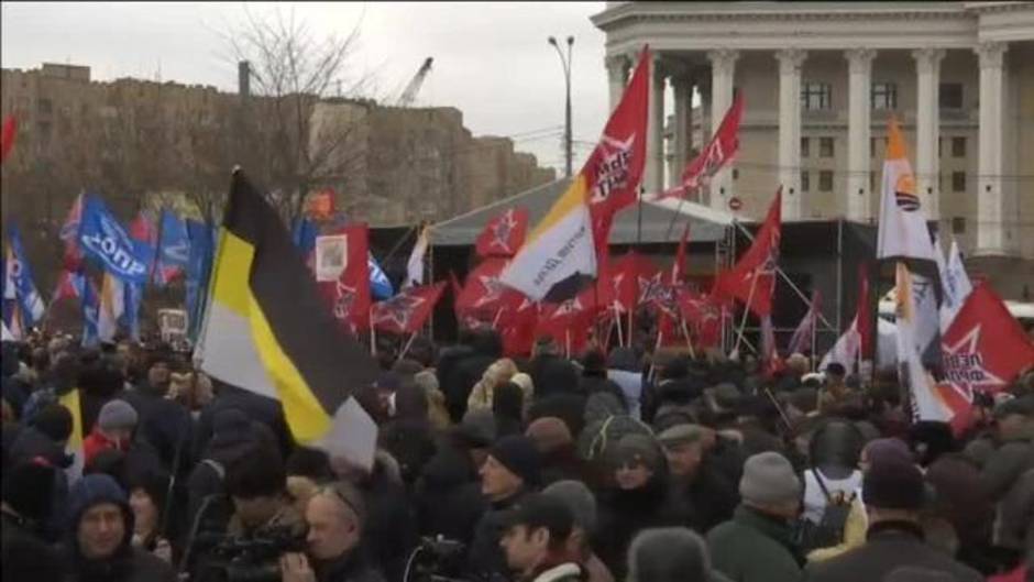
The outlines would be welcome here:
<svg viewBox="0 0 1034 582">
<path fill-rule="evenodd" d="M 871 582 L 902 567 L 945 573 L 958 582 L 983 576 L 923 541 L 919 512 L 923 506 L 923 473 L 897 455 L 869 459 L 862 501 L 869 512 L 866 543 L 805 571 L 809 582 Z"/>
</svg>

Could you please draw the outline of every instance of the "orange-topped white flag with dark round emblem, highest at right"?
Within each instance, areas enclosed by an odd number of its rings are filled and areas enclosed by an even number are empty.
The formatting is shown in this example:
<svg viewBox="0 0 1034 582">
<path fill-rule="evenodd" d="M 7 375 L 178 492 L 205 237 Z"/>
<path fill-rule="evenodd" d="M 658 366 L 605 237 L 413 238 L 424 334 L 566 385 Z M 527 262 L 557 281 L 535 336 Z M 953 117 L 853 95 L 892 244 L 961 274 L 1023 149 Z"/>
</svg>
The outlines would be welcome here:
<svg viewBox="0 0 1034 582">
<path fill-rule="evenodd" d="M 926 228 L 926 216 L 915 191 L 915 176 L 909 163 L 904 138 L 893 118 L 888 123 L 887 133 L 876 256 L 933 263 L 936 256 Z"/>
</svg>

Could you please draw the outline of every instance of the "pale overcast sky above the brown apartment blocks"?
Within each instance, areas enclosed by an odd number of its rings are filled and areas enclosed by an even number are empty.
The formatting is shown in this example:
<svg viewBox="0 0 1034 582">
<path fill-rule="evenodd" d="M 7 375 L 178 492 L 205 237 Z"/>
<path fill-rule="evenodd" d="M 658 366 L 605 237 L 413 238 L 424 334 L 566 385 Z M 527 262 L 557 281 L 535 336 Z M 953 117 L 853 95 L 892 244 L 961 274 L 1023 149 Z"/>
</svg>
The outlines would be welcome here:
<svg viewBox="0 0 1034 582">
<path fill-rule="evenodd" d="M 515 135 L 541 165 L 563 166 L 563 75 L 549 35 L 573 35 L 574 139 L 595 142 L 607 113 L 604 2 L 542 3 L 51 3 L 3 2 L 2 66 L 88 65 L 94 79 L 156 78 L 237 89 L 224 33 L 280 10 L 315 33 L 360 26 L 353 59 L 377 96 L 397 98 L 425 57 L 435 64 L 416 103 L 460 109 L 475 135 Z M 550 128 L 532 134 L 527 132 Z M 575 147 L 575 171 L 590 146 Z M 579 155 L 581 154 L 581 155 Z"/>
</svg>

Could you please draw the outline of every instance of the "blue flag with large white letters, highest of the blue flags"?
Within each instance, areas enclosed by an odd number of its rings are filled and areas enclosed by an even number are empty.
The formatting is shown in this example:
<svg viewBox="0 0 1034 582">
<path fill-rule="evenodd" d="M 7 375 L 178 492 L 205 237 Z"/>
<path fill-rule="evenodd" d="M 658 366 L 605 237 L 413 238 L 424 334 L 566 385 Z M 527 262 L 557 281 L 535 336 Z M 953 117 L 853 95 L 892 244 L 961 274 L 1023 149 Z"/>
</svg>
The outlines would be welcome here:
<svg viewBox="0 0 1034 582">
<path fill-rule="evenodd" d="M 87 196 L 82 205 L 79 243 L 88 255 L 123 282 L 146 283 L 154 249 L 146 243 L 135 245 L 97 196 Z M 144 249 L 150 249 L 151 254 L 138 254 Z"/>
</svg>

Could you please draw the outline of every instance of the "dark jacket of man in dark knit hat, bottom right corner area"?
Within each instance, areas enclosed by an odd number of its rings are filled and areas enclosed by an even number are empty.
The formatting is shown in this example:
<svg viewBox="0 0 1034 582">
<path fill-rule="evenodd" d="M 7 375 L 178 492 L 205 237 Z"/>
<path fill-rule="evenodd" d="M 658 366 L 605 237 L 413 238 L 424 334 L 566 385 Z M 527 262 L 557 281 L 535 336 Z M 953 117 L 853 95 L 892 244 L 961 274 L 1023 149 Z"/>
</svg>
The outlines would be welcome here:
<svg viewBox="0 0 1034 582">
<path fill-rule="evenodd" d="M 906 521 L 883 521 L 869 527 L 864 546 L 832 560 L 810 564 L 809 582 L 872 582 L 903 565 L 950 574 L 958 582 L 978 582 L 983 576 L 923 542 L 923 531 Z"/>
</svg>

